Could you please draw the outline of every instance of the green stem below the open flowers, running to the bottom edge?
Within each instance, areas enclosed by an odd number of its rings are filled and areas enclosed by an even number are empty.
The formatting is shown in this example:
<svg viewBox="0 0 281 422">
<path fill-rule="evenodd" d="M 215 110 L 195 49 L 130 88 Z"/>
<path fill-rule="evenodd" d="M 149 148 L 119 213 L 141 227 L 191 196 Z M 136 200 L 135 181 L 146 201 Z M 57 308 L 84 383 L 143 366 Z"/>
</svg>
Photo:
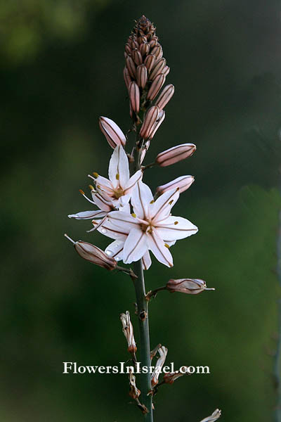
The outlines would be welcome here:
<svg viewBox="0 0 281 422">
<path fill-rule="evenodd" d="M 151 365 L 150 361 L 150 335 L 148 326 L 148 301 L 145 299 L 145 279 L 143 276 L 143 264 L 140 261 L 135 262 L 133 271 L 138 279 L 133 280 L 136 290 L 136 303 L 138 305 L 138 326 L 140 330 L 140 343 L 138 349 L 141 352 L 141 367 Z M 148 414 L 145 414 L 145 422 L 153 422 L 152 395 L 148 395 L 151 390 L 151 374 L 141 373 L 141 402 L 148 408 Z"/>
</svg>

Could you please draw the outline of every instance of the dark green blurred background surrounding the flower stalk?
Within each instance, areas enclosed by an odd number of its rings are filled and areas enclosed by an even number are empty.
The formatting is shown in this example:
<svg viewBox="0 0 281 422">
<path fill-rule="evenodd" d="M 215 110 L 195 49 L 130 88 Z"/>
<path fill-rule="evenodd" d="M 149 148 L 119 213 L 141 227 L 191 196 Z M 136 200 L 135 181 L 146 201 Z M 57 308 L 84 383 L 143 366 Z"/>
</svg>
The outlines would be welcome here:
<svg viewBox="0 0 281 422">
<path fill-rule="evenodd" d="M 152 169 L 152 188 L 183 174 L 195 184 L 175 215 L 199 226 L 154 261 L 148 289 L 206 279 L 216 292 L 163 292 L 151 303 L 152 346 L 176 366 L 209 365 L 155 400 L 155 421 L 273 421 L 280 209 L 280 2 L 1 2 L 1 407 L 4 422 L 141 421 L 122 375 L 62 374 L 62 362 L 128 358 L 119 313 L 133 314 L 131 281 L 74 253 L 63 234 L 105 248 L 79 195 L 112 153 L 98 116 L 126 132 L 123 49 L 133 20 L 157 25 L 176 93 L 148 153 L 193 142 L 185 162 Z M 136 326 L 136 321 L 135 321 Z M 137 327 L 136 327 L 137 328 Z"/>
</svg>

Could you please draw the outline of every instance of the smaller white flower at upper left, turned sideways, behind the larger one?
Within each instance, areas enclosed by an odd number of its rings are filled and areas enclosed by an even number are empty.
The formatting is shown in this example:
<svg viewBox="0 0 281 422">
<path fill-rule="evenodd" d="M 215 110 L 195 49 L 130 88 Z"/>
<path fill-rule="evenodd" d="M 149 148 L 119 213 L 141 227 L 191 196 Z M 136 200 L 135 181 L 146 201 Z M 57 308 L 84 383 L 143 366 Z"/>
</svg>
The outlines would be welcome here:
<svg viewBox="0 0 281 422">
<path fill-rule="evenodd" d="M 108 169 L 109 179 L 96 174 L 92 177 L 95 181 L 95 188 L 91 190 L 92 200 L 86 197 L 85 193 L 81 191 L 84 198 L 90 203 L 96 205 L 100 210 L 77 212 L 68 217 L 75 219 L 99 219 L 107 215 L 112 210 L 118 210 L 119 207 L 124 207 L 129 203 L 131 193 L 138 181 L 143 177 L 143 172 L 138 170 L 130 178 L 129 160 L 122 145 L 115 148 L 110 158 L 110 165 Z"/>
</svg>

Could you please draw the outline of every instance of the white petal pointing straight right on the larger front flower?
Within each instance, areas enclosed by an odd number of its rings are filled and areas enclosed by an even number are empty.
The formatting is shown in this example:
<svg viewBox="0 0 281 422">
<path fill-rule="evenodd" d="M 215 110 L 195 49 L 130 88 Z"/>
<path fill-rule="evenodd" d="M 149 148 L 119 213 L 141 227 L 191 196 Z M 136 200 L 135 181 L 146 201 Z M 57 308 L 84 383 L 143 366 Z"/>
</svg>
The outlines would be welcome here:
<svg viewBox="0 0 281 422">
<path fill-rule="evenodd" d="M 170 216 L 155 224 L 157 234 L 165 241 L 177 241 L 197 233 L 198 228 L 188 219 Z"/>
</svg>

